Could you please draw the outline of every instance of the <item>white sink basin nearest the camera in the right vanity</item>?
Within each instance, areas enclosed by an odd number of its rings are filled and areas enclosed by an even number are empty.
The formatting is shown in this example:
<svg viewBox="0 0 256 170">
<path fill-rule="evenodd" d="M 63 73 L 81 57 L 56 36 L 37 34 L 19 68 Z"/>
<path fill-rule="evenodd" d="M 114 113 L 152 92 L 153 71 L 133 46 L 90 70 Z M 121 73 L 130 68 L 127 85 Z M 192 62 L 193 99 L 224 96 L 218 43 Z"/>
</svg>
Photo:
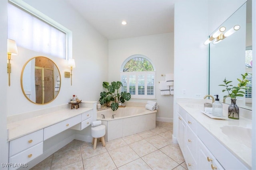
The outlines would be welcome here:
<svg viewBox="0 0 256 170">
<path fill-rule="evenodd" d="M 240 126 L 223 126 L 220 127 L 222 133 L 233 138 L 238 143 L 252 148 L 252 129 Z"/>
</svg>

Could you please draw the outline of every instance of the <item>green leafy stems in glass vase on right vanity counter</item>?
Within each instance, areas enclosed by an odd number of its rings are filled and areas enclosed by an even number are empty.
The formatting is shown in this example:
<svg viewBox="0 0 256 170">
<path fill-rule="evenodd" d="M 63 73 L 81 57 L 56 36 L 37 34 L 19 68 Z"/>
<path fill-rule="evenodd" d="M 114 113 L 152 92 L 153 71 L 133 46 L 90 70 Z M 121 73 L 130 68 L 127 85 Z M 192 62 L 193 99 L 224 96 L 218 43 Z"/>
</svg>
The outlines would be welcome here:
<svg viewBox="0 0 256 170">
<path fill-rule="evenodd" d="M 246 72 L 244 75 L 242 75 L 242 80 L 237 78 L 238 80 L 238 85 L 233 86 L 230 84 L 232 81 L 226 80 L 226 78 L 223 80 L 224 84 L 220 84 L 219 86 L 224 86 L 225 89 L 222 90 L 222 92 L 227 91 L 228 95 L 223 96 L 223 98 L 230 97 L 231 98 L 231 104 L 228 107 L 228 117 L 230 119 L 239 119 L 239 107 L 236 105 L 236 97 L 243 97 L 245 92 L 243 90 L 246 89 L 246 84 L 248 80 L 246 79 L 246 76 L 248 73 Z"/>
</svg>

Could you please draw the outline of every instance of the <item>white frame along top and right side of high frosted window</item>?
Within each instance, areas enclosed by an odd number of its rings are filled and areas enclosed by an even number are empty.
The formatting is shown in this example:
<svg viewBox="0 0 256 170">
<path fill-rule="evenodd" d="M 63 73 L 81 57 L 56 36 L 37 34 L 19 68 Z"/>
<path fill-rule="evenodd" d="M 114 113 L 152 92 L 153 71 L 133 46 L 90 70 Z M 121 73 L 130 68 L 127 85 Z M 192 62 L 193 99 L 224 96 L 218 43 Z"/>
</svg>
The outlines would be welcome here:
<svg viewBox="0 0 256 170">
<path fill-rule="evenodd" d="M 50 17 L 46 16 L 42 12 L 36 10 L 34 7 L 30 6 L 22 0 L 8 0 L 9 2 L 19 6 L 23 10 L 31 13 L 32 15 L 38 17 L 40 20 L 60 29 L 60 31 L 66 33 L 66 60 L 72 59 L 72 31 L 61 25 L 60 23 L 52 20 Z"/>
</svg>

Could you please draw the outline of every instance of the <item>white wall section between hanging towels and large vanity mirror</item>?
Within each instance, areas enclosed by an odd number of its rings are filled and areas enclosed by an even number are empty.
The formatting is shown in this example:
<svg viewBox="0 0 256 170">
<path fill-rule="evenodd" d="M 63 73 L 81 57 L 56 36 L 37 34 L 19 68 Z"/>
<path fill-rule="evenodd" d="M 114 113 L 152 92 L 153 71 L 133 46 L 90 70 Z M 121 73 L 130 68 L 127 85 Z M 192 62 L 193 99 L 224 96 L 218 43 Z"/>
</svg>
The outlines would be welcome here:
<svg viewBox="0 0 256 170">
<path fill-rule="evenodd" d="M 207 94 L 208 2 L 177 1 L 174 7 L 174 125 L 177 136 L 177 98 L 195 98 Z M 183 95 L 182 91 L 186 90 Z"/>
</svg>

